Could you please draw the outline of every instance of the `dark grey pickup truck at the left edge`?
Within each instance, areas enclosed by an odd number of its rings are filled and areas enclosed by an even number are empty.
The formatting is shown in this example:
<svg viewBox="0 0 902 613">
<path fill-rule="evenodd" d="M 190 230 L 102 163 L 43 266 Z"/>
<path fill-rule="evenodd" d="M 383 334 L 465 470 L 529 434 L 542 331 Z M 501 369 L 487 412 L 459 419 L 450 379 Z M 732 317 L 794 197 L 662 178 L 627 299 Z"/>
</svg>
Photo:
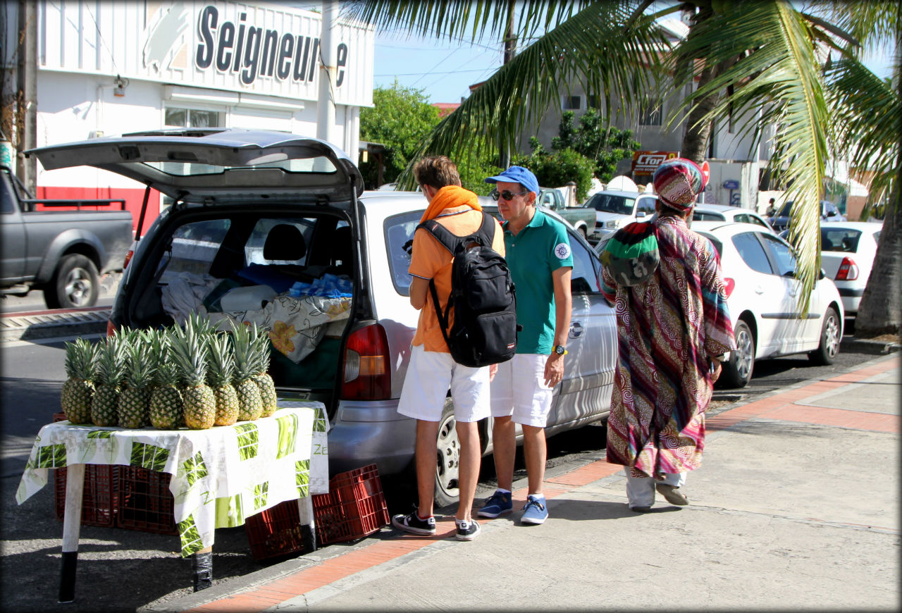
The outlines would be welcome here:
<svg viewBox="0 0 902 613">
<path fill-rule="evenodd" d="M 24 296 L 41 289 L 48 308 L 94 306 L 99 275 L 122 270 L 132 243 L 132 214 L 124 200 L 34 198 L 0 166 L 0 293 Z M 78 206 L 36 210 L 36 206 Z M 119 204 L 123 210 L 80 206 Z"/>
</svg>

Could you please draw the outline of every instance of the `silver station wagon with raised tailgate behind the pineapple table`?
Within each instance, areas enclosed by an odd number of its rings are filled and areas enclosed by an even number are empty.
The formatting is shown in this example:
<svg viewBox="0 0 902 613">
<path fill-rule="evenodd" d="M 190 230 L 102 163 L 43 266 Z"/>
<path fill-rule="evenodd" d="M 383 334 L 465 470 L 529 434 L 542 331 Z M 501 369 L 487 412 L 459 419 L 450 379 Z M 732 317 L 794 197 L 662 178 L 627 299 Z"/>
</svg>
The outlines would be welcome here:
<svg viewBox="0 0 902 613">
<path fill-rule="evenodd" d="M 375 462 L 380 474 L 391 475 L 410 465 L 415 422 L 400 416 L 397 406 L 419 317 L 410 306 L 408 268 L 413 233 L 427 205 L 422 194 L 364 193 L 363 178 L 344 152 L 287 133 L 143 133 L 35 153 L 45 166 L 103 166 L 177 199 L 137 242 L 115 297 L 111 329 L 171 325 L 178 304 L 217 315 L 216 295 L 230 287 L 265 284 L 284 294 L 297 281 L 327 274 L 348 281 L 351 296 L 328 304 L 337 314 L 333 323 L 309 329 L 309 338 L 292 337 L 310 345 L 308 355 L 292 361 L 273 349 L 270 372 L 281 396 L 327 407 L 331 472 Z M 480 202 L 497 215 L 490 198 Z M 599 288 L 601 263 L 580 233 L 568 233 L 573 312 L 548 435 L 607 415 L 616 359 L 613 311 Z M 173 300 L 174 290 L 186 285 L 188 291 Z M 251 298 L 261 305 L 258 295 Z M 308 314 L 303 304 L 291 308 Z M 491 453 L 490 422 L 480 424 L 483 453 Z M 445 505 L 457 496 L 451 398 L 438 445 L 436 498 Z"/>
</svg>

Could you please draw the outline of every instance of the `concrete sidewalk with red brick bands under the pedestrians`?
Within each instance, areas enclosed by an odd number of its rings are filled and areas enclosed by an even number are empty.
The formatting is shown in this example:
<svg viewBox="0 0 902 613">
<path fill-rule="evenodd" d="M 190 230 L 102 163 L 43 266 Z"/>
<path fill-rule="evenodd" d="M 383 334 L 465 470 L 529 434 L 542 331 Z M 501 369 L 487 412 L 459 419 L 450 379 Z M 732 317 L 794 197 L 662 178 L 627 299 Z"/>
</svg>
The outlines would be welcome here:
<svg viewBox="0 0 902 613">
<path fill-rule="evenodd" d="M 688 507 L 630 512 L 602 450 L 548 474 L 542 526 L 515 511 L 462 543 L 445 509 L 434 537 L 385 527 L 140 610 L 898 610 L 899 390 L 894 354 L 723 407 Z"/>
</svg>

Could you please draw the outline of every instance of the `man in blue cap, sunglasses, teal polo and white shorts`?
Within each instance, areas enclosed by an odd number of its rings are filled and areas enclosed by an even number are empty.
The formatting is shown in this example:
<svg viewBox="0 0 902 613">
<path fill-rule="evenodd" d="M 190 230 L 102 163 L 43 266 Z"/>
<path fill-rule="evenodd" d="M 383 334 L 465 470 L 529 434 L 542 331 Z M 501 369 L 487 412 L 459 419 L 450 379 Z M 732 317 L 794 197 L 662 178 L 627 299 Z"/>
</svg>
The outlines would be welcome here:
<svg viewBox="0 0 902 613">
<path fill-rule="evenodd" d="M 514 438 L 523 430 L 529 495 L 520 522 L 542 524 L 548 508 L 545 480 L 545 425 L 554 387 L 564 376 L 566 338 L 570 329 L 570 273 L 573 255 L 563 224 L 536 206 L 538 180 L 528 169 L 511 166 L 485 179 L 494 183 L 492 197 L 504 223 L 504 248 L 517 290 L 517 353 L 498 365 L 492 380 L 492 446 L 498 489 L 479 510 L 498 517 L 513 510 Z"/>
</svg>

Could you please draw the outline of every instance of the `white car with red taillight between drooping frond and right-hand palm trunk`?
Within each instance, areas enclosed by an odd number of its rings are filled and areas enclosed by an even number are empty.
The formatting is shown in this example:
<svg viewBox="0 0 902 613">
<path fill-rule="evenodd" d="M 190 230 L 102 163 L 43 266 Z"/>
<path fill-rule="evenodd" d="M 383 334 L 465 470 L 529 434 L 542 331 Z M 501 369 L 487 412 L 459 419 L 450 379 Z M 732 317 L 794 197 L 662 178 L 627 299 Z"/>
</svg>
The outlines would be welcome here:
<svg viewBox="0 0 902 613">
<path fill-rule="evenodd" d="M 839 289 L 847 317 L 858 315 L 882 229 L 882 222 L 821 224 L 821 268 Z"/>
</svg>

